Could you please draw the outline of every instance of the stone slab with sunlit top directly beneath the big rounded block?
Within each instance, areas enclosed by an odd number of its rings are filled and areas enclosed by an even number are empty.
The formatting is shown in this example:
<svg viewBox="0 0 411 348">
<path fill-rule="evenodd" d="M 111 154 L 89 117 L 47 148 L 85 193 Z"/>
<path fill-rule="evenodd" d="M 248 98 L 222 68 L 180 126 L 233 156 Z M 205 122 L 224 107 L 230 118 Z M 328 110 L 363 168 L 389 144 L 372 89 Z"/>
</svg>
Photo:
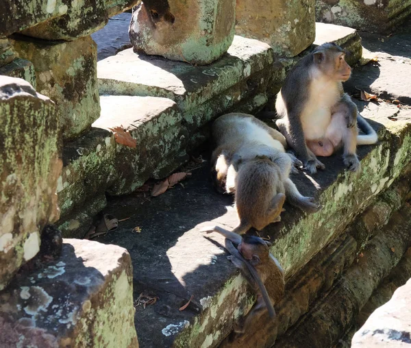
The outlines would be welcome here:
<svg viewBox="0 0 411 348">
<path fill-rule="evenodd" d="M 99 90 L 107 95 L 165 97 L 188 111 L 240 82 L 247 83 L 251 75 L 268 68 L 273 60 L 269 45 L 240 36 L 234 37 L 228 55 L 210 66 L 171 62 L 126 49 L 97 64 Z"/>
</svg>

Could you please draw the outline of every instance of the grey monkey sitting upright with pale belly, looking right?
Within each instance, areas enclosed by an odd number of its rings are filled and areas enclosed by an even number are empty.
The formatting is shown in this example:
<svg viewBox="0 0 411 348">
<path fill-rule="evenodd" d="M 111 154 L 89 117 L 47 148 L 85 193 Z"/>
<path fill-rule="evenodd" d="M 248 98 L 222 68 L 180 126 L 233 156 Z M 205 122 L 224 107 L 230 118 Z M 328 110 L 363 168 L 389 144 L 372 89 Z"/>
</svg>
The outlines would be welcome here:
<svg viewBox="0 0 411 348">
<path fill-rule="evenodd" d="M 288 73 L 277 95 L 277 127 L 310 173 L 325 169 L 316 156 L 331 156 L 344 148 L 343 161 L 360 169 L 357 145 L 377 142 L 377 134 L 343 90 L 351 75 L 344 50 L 325 43 L 302 58 Z M 358 135 L 357 125 L 365 135 Z"/>
</svg>

